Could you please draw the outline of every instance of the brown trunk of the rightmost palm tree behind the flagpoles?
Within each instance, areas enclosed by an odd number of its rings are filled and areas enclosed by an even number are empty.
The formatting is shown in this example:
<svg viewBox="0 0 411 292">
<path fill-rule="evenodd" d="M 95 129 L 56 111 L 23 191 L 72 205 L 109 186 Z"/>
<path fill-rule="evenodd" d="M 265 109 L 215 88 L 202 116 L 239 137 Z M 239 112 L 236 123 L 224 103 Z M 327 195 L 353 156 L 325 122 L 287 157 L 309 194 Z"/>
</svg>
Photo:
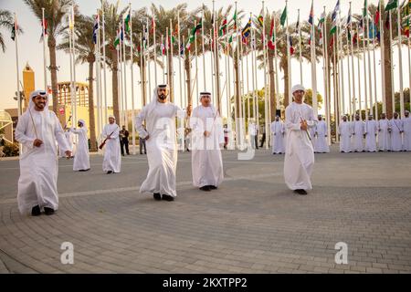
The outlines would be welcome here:
<svg viewBox="0 0 411 292">
<path fill-rule="evenodd" d="M 388 14 L 385 14 L 385 17 L 388 17 Z M 386 28 L 386 27 L 384 27 Z M 392 99 L 392 90 L 393 90 L 393 83 L 391 77 L 391 68 L 393 66 L 393 62 L 391 59 L 391 49 L 392 44 L 390 40 L 390 33 L 389 29 L 385 29 L 384 34 L 384 71 L 385 71 L 385 107 L 386 107 L 386 117 L 387 119 L 393 118 L 393 99 Z"/>
</svg>

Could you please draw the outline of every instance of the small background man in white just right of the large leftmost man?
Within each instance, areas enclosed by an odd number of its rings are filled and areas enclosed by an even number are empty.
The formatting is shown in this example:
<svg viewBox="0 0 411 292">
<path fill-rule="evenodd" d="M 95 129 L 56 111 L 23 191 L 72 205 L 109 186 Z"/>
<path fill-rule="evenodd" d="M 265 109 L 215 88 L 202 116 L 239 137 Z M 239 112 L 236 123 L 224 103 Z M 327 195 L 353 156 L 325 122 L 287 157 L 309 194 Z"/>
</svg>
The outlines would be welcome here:
<svg viewBox="0 0 411 292">
<path fill-rule="evenodd" d="M 74 155 L 73 171 L 87 172 L 90 170 L 90 154 L 86 121 L 79 120 L 78 126 L 78 129 L 70 128 L 70 131 L 79 136 L 77 150 Z"/>
</svg>

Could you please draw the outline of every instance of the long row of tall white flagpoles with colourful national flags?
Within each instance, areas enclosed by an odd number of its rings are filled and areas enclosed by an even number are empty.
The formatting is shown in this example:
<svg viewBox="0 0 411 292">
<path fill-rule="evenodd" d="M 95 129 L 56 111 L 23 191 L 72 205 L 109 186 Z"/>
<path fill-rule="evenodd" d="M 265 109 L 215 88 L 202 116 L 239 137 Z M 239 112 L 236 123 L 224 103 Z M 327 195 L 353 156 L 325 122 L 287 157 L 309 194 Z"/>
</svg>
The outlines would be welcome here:
<svg viewBox="0 0 411 292">
<path fill-rule="evenodd" d="M 289 95 L 284 97 L 288 99 L 289 103 L 292 102 L 292 97 L 290 94 L 291 89 L 291 55 L 296 52 L 296 49 L 292 44 L 292 32 L 289 26 L 289 16 L 288 16 L 288 1 L 285 1 L 286 5 L 283 9 L 281 16 L 279 17 L 279 25 L 285 28 L 286 44 L 287 44 L 287 63 L 288 63 L 288 87 Z M 330 121 L 332 115 L 334 116 L 336 122 L 336 130 L 338 130 L 339 117 L 342 114 L 353 114 L 357 110 L 365 110 L 365 116 L 368 117 L 369 111 L 373 111 L 372 107 L 375 106 L 375 113 L 377 114 L 377 79 L 376 79 L 376 57 L 375 57 L 375 47 L 376 39 L 380 43 L 381 49 L 381 92 L 383 101 L 383 111 L 386 112 L 385 99 L 391 98 L 393 111 L 395 111 L 395 95 L 394 95 L 394 68 L 392 64 L 389 64 L 391 69 L 391 77 L 393 83 L 393 89 L 391 92 L 391 97 L 385 96 L 385 66 L 383 63 L 384 58 L 384 24 L 382 20 L 383 11 L 388 13 L 389 20 L 389 39 L 390 44 L 393 42 L 392 36 L 392 13 L 396 11 L 397 14 L 397 30 L 398 30 L 398 56 L 399 56 L 399 92 L 400 92 L 400 111 L 402 117 L 404 117 L 404 80 L 403 80 L 403 57 L 402 57 L 402 21 L 405 21 L 404 31 L 408 37 L 408 68 L 411 77 L 411 58 L 410 58 L 410 47 L 409 47 L 409 15 L 410 15 L 411 1 L 406 0 L 403 5 L 398 5 L 397 0 L 390 0 L 387 5 L 385 5 L 384 0 L 379 1 L 378 10 L 374 16 L 371 16 L 370 24 L 370 12 L 368 9 L 368 2 L 364 0 L 363 17 L 359 19 L 358 22 L 353 22 L 351 2 L 348 16 L 346 19 L 341 17 L 340 0 L 332 11 L 332 27 L 330 29 L 330 34 L 327 35 L 327 21 L 326 21 L 326 10 L 323 7 L 323 12 L 318 20 L 318 26 L 314 26 L 314 3 L 311 1 L 311 12 L 309 16 L 308 23 L 311 27 L 311 37 L 310 37 L 310 47 L 311 47 L 311 89 L 312 89 L 312 106 L 314 113 L 318 113 L 318 100 L 317 100 L 317 53 L 316 49 L 320 47 L 322 51 L 322 61 L 323 61 L 323 78 L 324 78 L 324 104 L 326 120 Z M 405 9 L 405 17 L 401 16 L 401 9 Z M 170 26 L 166 29 L 165 35 L 161 36 L 161 44 L 157 44 L 156 39 L 156 27 L 154 16 L 151 22 L 151 29 L 149 25 L 149 20 L 146 19 L 145 25 L 143 25 L 143 33 L 140 39 L 135 41 L 132 38 L 132 6 L 129 5 L 128 13 L 121 17 L 121 23 L 119 24 L 118 35 L 114 42 L 114 46 L 117 48 L 117 59 L 120 74 L 119 78 L 119 104 L 121 110 L 121 119 L 119 124 L 123 124 L 128 128 L 128 100 L 127 96 L 128 88 L 131 88 L 131 100 L 132 100 L 132 120 L 135 117 L 135 110 L 139 105 L 135 102 L 134 94 L 134 76 L 133 76 L 133 62 L 127 58 L 128 50 L 130 51 L 130 56 L 140 57 L 140 84 L 141 84 L 141 104 L 142 107 L 147 102 L 150 101 L 150 96 L 152 89 L 157 85 L 158 82 L 169 83 L 171 87 L 171 99 L 174 102 L 179 101 L 182 108 L 187 108 L 188 100 L 192 100 L 193 93 L 195 90 L 195 97 L 198 97 L 199 93 L 199 60 L 198 60 L 198 47 L 197 47 L 197 37 L 201 32 L 201 49 L 202 49 L 202 66 L 203 66 L 203 86 L 206 89 L 211 81 L 211 91 L 213 92 L 213 101 L 216 104 L 218 110 L 223 112 L 226 111 L 227 126 L 231 132 L 231 128 L 235 127 L 235 132 L 237 133 L 237 146 L 239 148 L 244 147 L 244 141 L 246 137 L 246 118 L 248 120 L 254 119 L 259 126 L 260 112 L 258 109 L 258 94 L 257 89 L 261 88 L 261 78 L 258 78 L 258 46 L 257 37 L 261 37 L 262 49 L 259 52 L 262 53 L 263 59 L 263 74 L 264 74 L 264 126 L 268 137 L 270 138 L 269 124 L 272 121 L 271 111 L 272 109 L 279 110 L 279 64 L 278 64 L 278 42 L 279 39 L 276 36 L 277 33 L 277 23 L 276 16 L 272 14 L 272 21 L 269 29 L 269 35 L 266 35 L 266 23 L 265 23 L 265 6 L 264 1 L 262 2 L 263 13 L 257 17 L 256 25 L 253 25 L 252 15 L 248 19 L 248 23 L 243 28 L 239 27 L 238 16 L 237 16 L 237 2 L 235 4 L 234 16 L 230 21 L 227 17 L 221 21 L 220 24 L 217 23 L 215 18 L 215 3 L 213 1 L 213 28 L 209 32 L 205 32 L 204 26 L 204 10 L 201 18 L 195 22 L 193 29 L 188 32 L 188 39 L 181 36 L 180 30 L 180 16 L 177 16 L 177 24 L 174 30 L 172 21 L 170 20 Z M 101 16 L 101 19 L 100 19 Z M 230 26 L 231 25 L 231 26 Z M 259 25 L 259 28 L 258 28 Z M 46 37 L 47 36 L 47 22 L 44 17 L 43 9 L 43 20 L 42 20 L 42 35 L 43 37 L 43 55 L 44 55 L 44 75 L 45 75 L 45 87 L 47 88 L 47 67 L 46 67 Z M 17 25 L 15 24 L 15 29 Z M 262 29 L 262 31 L 261 31 Z M 70 59 L 70 86 L 71 86 L 71 112 L 73 115 L 73 120 L 77 120 L 77 96 L 76 96 L 76 66 L 75 66 L 75 46 L 76 46 L 76 34 L 74 30 L 74 9 L 68 14 L 68 30 L 69 30 L 69 59 Z M 297 49 L 299 50 L 299 63 L 300 63 L 300 83 L 303 83 L 303 69 L 302 69 L 302 41 L 301 41 L 301 26 L 300 26 L 300 11 L 298 11 L 298 21 L 295 27 L 295 34 L 297 34 L 299 39 L 299 44 Z M 318 31 L 316 31 L 318 30 Z M 208 35 L 207 35 L 208 34 Z M 317 47 L 316 35 L 320 35 L 320 43 Z M 17 34 L 15 34 L 16 39 L 16 59 L 17 59 L 17 72 L 18 72 L 18 56 L 17 56 Z M 363 69 L 364 72 L 361 73 L 361 61 L 360 61 L 360 40 L 363 36 Z M 174 42 L 175 36 L 177 37 L 177 49 L 178 49 L 178 89 L 179 89 L 179 99 L 174 99 L 175 89 L 174 86 Z M 345 41 L 343 37 L 345 36 Z M 151 38 L 153 39 L 153 44 L 151 46 Z M 328 41 L 330 39 L 330 41 Z M 98 10 L 95 23 L 94 23 L 94 33 L 93 40 L 95 43 L 95 54 L 97 58 L 96 66 L 96 106 L 97 106 L 97 132 L 100 133 L 103 124 L 108 118 L 108 99 L 107 99 L 107 75 L 106 75 L 106 39 L 105 39 L 105 22 L 104 22 L 104 9 L 101 7 Z M 344 47 L 345 43 L 345 47 Z M 237 44 L 236 47 L 233 44 Z M 160 45 L 160 46 L 158 46 Z M 356 49 L 355 49 L 356 45 Z M 193 47 L 194 46 L 194 47 Z M 209 55 L 210 63 L 206 64 L 205 61 L 205 46 L 210 46 Z M 157 56 L 157 48 L 160 48 L 160 55 L 163 60 L 162 77 L 158 78 L 157 64 L 153 61 L 153 56 Z M 268 57 L 269 50 L 274 51 L 274 84 L 270 84 L 269 71 L 268 71 Z M 137 51 L 137 53 L 135 52 Z M 220 53 L 223 51 L 223 56 L 220 57 Z M 332 59 L 330 57 L 330 51 L 332 51 Z M 354 66 L 354 57 L 356 52 L 357 58 L 357 69 Z M 194 53 L 194 56 L 192 54 Z M 373 54 L 373 61 L 371 58 Z M 393 49 L 390 49 L 391 59 L 393 59 Z M 345 57 L 344 57 L 345 55 Z M 129 56 L 129 57 L 130 57 Z M 164 57 L 166 61 L 164 61 Z M 248 59 L 250 57 L 250 59 Z M 186 59 L 188 58 L 188 60 Z M 223 60 L 224 59 L 224 60 Z M 182 62 L 186 62 L 191 66 L 192 60 L 194 60 L 194 78 L 191 76 L 191 69 L 187 73 L 190 76 L 186 76 L 186 70 L 182 70 Z M 130 61 L 130 78 L 132 86 L 127 86 L 128 69 L 127 61 Z M 332 62 L 332 67 L 329 67 L 329 63 Z M 221 64 L 224 64 L 223 66 Z M 145 65 L 145 66 L 143 66 Z M 152 72 L 153 65 L 153 72 Z M 367 66 L 368 65 L 368 66 Z M 346 66 L 346 70 L 344 67 Z M 102 67 L 102 68 L 101 68 Z M 236 70 L 237 67 L 237 70 Z M 251 68 L 251 74 L 249 74 L 249 67 Z M 212 78 L 207 78 L 206 68 L 211 69 Z M 374 69 L 374 70 L 373 70 Z M 244 77 L 244 70 L 246 71 L 246 78 Z M 101 74 L 102 71 L 102 74 Z M 183 71 L 183 72 L 182 72 Z M 332 75 L 334 78 L 329 78 Z M 223 73 L 223 74 L 221 74 Z M 361 82 L 361 75 L 363 74 L 364 84 Z M 18 74 L 17 74 L 18 76 Z M 153 80 L 152 80 L 153 76 Z M 223 78 L 220 78 L 223 76 Z M 345 79 L 345 76 L 348 76 Z M 355 78 L 357 77 L 357 78 Z M 373 80 L 374 77 L 374 80 Z M 191 88 L 187 88 L 184 82 L 190 78 L 193 81 Z M 249 82 L 251 78 L 251 82 Z M 345 80 L 347 82 L 345 82 Z M 152 82 L 153 81 L 153 82 Z M 224 81 L 224 82 L 223 82 Z M 374 82 L 374 87 L 373 87 Z M 19 78 L 17 77 L 17 86 L 19 83 Z M 345 85 L 348 83 L 348 92 L 345 92 Z M 411 78 L 410 78 L 411 83 Z M 362 91 L 362 85 L 364 85 L 364 94 Z M 232 88 L 234 92 L 232 92 Z M 271 105 L 270 89 L 274 89 L 276 92 L 276 102 L 275 105 Z M 19 92 L 19 90 L 17 90 Z M 234 94 L 233 94 L 234 93 Z M 347 97 L 346 98 L 346 93 Z M 234 104 L 231 106 L 231 97 L 234 95 Z M 222 108 L 222 99 L 226 99 L 227 108 Z M 358 100 L 357 100 L 358 99 Z M 196 99 L 194 99 L 196 100 Z M 348 100 L 348 103 L 345 102 Z M 252 101 L 252 109 L 250 108 L 250 103 Z M 198 101 L 197 101 L 198 102 Z M 197 103 L 196 102 L 196 103 Z M 364 103 L 364 107 L 363 107 Z M 20 104 L 20 103 L 19 103 Z M 194 103 L 195 105 L 195 103 Z M 357 106 L 358 105 L 358 106 Z M 238 109 L 237 109 L 238 107 Z M 234 112 L 233 112 L 234 111 Z M 19 113 L 21 109 L 19 108 Z M 234 118 L 234 123 L 231 119 Z M 378 117 L 376 117 L 378 118 Z M 331 129 L 329 127 L 329 139 L 331 139 Z M 338 135 L 336 136 L 338 139 Z M 232 137 L 231 137 L 232 138 Z M 233 139 L 230 139 L 233 141 Z M 331 142 L 331 140 L 330 140 Z M 135 129 L 132 122 L 132 144 L 135 146 Z M 267 143 L 269 147 L 269 143 Z M 135 153 L 135 147 L 132 148 Z"/>
</svg>

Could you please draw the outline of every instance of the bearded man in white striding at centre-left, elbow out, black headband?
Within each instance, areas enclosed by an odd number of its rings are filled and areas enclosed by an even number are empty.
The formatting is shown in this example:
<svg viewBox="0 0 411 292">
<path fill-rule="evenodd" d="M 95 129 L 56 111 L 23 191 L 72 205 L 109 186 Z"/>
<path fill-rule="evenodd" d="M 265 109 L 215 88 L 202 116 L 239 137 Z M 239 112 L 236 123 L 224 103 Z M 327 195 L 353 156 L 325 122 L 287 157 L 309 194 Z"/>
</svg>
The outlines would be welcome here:
<svg viewBox="0 0 411 292">
<path fill-rule="evenodd" d="M 152 101 L 142 108 L 135 119 L 135 128 L 146 140 L 149 171 L 140 193 L 153 193 L 154 200 L 174 201 L 175 172 L 177 168 L 177 141 L 175 117 L 184 111 L 167 100 L 170 89 L 159 85 L 153 91 Z M 146 120 L 146 129 L 142 121 Z"/>
</svg>

